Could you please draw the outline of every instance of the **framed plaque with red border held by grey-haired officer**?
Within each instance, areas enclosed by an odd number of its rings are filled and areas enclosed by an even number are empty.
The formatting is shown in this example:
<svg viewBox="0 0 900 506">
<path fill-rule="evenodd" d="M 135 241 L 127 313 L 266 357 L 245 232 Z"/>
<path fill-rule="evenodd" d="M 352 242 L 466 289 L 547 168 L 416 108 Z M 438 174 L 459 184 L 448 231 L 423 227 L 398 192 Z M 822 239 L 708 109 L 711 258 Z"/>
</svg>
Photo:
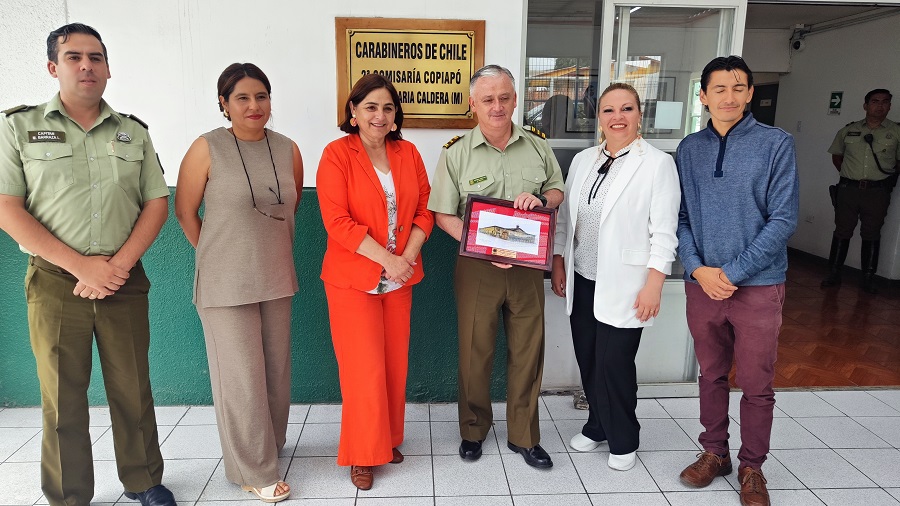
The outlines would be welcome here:
<svg viewBox="0 0 900 506">
<path fill-rule="evenodd" d="M 525 211 L 509 200 L 469 195 L 459 254 L 549 271 L 555 232 L 556 209 Z"/>
</svg>

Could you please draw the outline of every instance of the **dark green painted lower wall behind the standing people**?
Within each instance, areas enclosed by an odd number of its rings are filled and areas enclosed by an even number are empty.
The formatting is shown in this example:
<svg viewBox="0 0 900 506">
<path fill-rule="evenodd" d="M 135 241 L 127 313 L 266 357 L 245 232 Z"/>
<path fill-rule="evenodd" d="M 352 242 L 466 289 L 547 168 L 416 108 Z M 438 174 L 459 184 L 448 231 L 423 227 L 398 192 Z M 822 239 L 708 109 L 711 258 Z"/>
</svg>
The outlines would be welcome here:
<svg viewBox="0 0 900 506">
<path fill-rule="evenodd" d="M 173 190 L 174 194 L 174 190 Z M 175 220 L 169 219 L 144 255 L 150 290 L 151 381 L 156 403 L 210 404 L 209 370 L 200 320 L 191 304 L 194 252 Z M 423 248 L 425 280 L 413 293 L 408 397 L 413 402 L 456 399 L 456 304 L 453 269 L 457 243 L 435 227 Z M 319 279 L 325 229 L 314 189 L 303 191 L 297 215 L 294 260 L 300 292 L 294 297 L 294 402 L 340 402 L 337 363 L 331 346 L 325 291 Z M 27 257 L 0 233 L 0 405 L 40 404 L 34 355 L 28 338 L 23 280 Z M 502 327 L 502 323 L 501 323 Z M 506 345 L 498 337 L 492 396 L 506 393 Z M 92 404 L 105 404 L 100 365 L 94 353 L 88 392 Z"/>
</svg>

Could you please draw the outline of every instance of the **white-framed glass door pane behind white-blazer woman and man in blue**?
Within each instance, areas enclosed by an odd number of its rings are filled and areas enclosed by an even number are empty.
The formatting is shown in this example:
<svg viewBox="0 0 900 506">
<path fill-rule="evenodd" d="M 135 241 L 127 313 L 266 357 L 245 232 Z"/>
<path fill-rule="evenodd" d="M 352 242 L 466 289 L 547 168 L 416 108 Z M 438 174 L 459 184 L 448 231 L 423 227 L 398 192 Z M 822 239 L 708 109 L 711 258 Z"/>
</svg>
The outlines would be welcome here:
<svg viewBox="0 0 900 506">
<path fill-rule="evenodd" d="M 716 56 L 740 54 L 746 10 L 744 0 L 603 0 L 597 89 L 634 86 L 642 135 L 674 152 L 685 135 L 706 127 L 700 73 Z"/>
</svg>

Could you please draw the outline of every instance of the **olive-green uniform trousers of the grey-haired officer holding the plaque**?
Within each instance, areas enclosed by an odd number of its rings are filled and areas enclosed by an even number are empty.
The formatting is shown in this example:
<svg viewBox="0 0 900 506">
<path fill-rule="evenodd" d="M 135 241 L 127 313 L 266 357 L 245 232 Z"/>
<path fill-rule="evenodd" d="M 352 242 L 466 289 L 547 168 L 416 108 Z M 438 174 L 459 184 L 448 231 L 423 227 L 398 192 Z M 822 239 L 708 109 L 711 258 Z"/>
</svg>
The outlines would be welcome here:
<svg viewBox="0 0 900 506">
<path fill-rule="evenodd" d="M 481 441 L 491 430 L 491 369 L 502 310 L 506 328 L 506 420 L 509 442 L 540 443 L 538 396 L 544 372 L 544 276 L 525 267 L 501 269 L 458 257 L 459 433 Z"/>
</svg>

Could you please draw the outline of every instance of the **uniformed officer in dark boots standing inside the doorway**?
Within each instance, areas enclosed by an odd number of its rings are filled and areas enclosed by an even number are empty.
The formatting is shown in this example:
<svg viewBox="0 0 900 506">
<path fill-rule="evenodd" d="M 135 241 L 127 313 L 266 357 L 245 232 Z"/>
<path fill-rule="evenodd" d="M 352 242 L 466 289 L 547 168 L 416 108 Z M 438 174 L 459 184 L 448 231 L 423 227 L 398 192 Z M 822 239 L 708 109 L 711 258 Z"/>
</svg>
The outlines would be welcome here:
<svg viewBox="0 0 900 506">
<path fill-rule="evenodd" d="M 822 288 L 841 283 L 841 268 L 856 222 L 862 239 L 860 268 L 862 287 L 877 293 L 875 271 L 881 244 L 881 226 L 891 203 L 900 161 L 900 126 L 887 119 L 891 93 L 875 89 L 866 93 L 866 117 L 840 129 L 828 148 L 831 161 L 841 173 L 834 208 L 834 236 L 828 256 L 828 276 Z"/>
</svg>

